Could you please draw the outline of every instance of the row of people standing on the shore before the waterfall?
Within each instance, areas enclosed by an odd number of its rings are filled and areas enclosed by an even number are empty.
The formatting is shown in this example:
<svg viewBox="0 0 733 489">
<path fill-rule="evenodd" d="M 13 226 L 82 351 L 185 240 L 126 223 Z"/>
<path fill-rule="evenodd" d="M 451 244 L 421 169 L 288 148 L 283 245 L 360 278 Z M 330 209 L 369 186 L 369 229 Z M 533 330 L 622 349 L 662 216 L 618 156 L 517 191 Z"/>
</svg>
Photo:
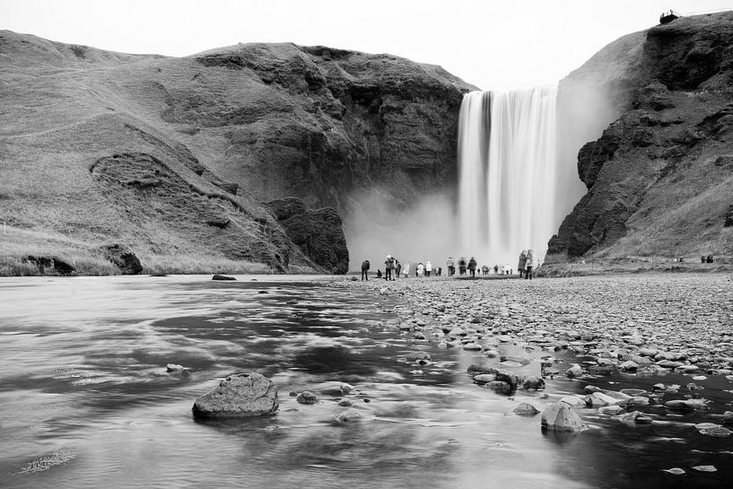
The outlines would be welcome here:
<svg viewBox="0 0 733 489">
<path fill-rule="evenodd" d="M 448 268 L 448 276 L 456 275 L 456 261 L 453 259 L 453 257 L 449 257 L 448 261 L 446 262 L 446 266 Z M 476 277 L 476 268 L 478 268 L 478 262 L 476 262 L 476 258 L 471 257 L 470 259 L 466 259 L 464 257 L 458 258 L 458 274 L 463 275 L 471 275 L 472 277 Z M 519 254 L 519 264 L 517 266 L 517 270 L 519 271 L 519 278 L 524 277 L 525 279 L 532 279 L 532 270 L 535 268 L 535 258 L 534 254 L 531 249 L 524 249 Z M 364 260 L 362 262 L 362 280 L 369 280 L 369 270 L 371 269 L 371 263 L 369 260 Z M 404 265 L 400 263 L 400 261 L 391 256 L 387 255 L 387 258 L 384 260 L 384 274 L 382 274 L 382 271 L 380 268 L 377 269 L 377 278 L 384 278 L 385 280 L 397 280 L 400 276 L 403 278 L 407 278 L 410 276 L 410 264 L 405 263 Z M 493 273 L 499 274 L 500 266 L 494 265 L 493 266 Z M 507 266 L 501 267 L 502 274 L 512 275 L 513 270 L 508 268 Z M 491 268 L 488 266 L 482 266 L 480 268 L 480 271 L 483 275 L 489 275 Z M 442 268 L 441 266 L 438 266 L 437 268 L 433 267 L 430 260 L 425 262 L 423 265 L 423 262 L 418 263 L 416 266 L 414 266 L 414 276 L 421 277 L 426 276 L 429 277 L 432 274 L 435 276 L 441 276 L 442 275 Z"/>
</svg>

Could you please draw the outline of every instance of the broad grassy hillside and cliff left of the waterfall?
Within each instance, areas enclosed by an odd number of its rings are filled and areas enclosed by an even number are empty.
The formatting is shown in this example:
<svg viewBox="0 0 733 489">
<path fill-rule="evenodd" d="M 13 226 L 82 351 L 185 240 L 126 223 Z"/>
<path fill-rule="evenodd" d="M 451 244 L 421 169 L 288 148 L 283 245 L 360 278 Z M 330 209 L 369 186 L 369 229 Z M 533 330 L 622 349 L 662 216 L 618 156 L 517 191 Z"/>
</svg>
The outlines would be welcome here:
<svg viewBox="0 0 733 489">
<path fill-rule="evenodd" d="M 114 241 L 179 271 L 213 257 L 343 272 L 338 215 L 306 205 L 341 211 L 354 188 L 451 179 L 472 88 L 388 55 L 248 44 L 138 56 L 10 31 L 0 83 L 0 220 L 32 232 L 37 254 Z M 306 204 L 302 226 L 262 204 L 289 196 Z M 328 247 L 314 249 L 323 226 Z"/>
</svg>

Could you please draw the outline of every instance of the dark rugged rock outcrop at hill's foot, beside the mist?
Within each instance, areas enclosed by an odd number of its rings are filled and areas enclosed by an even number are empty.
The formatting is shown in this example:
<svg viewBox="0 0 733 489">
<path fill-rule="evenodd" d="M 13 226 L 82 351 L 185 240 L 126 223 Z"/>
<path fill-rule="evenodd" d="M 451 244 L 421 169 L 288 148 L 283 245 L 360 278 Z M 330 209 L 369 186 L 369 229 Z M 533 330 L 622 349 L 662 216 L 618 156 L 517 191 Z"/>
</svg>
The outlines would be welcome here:
<svg viewBox="0 0 733 489">
<path fill-rule="evenodd" d="M 349 270 L 349 250 L 335 209 L 310 209 L 299 198 L 288 197 L 266 204 L 288 238 L 306 257 L 332 274 Z"/>
</svg>

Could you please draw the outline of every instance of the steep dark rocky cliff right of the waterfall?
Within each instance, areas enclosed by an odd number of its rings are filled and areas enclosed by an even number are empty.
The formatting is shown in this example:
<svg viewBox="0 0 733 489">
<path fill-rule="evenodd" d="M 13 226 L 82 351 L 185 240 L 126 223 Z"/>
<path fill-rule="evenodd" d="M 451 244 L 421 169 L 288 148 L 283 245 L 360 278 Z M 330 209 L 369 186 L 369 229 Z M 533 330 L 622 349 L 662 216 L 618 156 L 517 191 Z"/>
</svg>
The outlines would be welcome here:
<svg viewBox="0 0 733 489">
<path fill-rule="evenodd" d="M 613 122 L 580 148 L 578 173 L 588 192 L 549 253 L 730 250 L 733 13 L 680 18 L 619 39 L 560 90 L 564 116 L 579 116 L 576 126 L 599 131 Z M 603 103 L 589 103 L 592 97 Z"/>
</svg>

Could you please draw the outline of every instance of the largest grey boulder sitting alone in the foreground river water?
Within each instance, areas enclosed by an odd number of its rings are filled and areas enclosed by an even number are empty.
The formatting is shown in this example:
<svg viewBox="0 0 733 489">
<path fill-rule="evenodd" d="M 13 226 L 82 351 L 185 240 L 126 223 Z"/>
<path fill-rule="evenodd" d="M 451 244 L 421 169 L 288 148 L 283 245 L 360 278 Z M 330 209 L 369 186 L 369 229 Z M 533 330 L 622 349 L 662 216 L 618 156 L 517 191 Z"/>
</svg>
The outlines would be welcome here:
<svg viewBox="0 0 733 489">
<path fill-rule="evenodd" d="M 195 416 L 209 418 L 274 415 L 277 406 L 275 382 L 256 372 L 237 373 L 198 397 L 193 412 Z"/>
</svg>

